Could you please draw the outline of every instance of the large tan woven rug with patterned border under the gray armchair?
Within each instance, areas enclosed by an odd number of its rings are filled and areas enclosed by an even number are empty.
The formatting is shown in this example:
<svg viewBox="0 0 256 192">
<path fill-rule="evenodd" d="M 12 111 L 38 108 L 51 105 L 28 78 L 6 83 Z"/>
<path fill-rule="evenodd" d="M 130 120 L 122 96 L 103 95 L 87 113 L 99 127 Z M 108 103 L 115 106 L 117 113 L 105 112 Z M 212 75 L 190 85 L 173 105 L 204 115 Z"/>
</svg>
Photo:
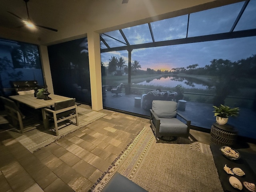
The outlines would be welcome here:
<svg viewBox="0 0 256 192">
<path fill-rule="evenodd" d="M 190 139 L 156 142 L 144 127 L 92 186 L 100 192 L 115 172 L 149 192 L 223 192 L 210 146 Z"/>
</svg>

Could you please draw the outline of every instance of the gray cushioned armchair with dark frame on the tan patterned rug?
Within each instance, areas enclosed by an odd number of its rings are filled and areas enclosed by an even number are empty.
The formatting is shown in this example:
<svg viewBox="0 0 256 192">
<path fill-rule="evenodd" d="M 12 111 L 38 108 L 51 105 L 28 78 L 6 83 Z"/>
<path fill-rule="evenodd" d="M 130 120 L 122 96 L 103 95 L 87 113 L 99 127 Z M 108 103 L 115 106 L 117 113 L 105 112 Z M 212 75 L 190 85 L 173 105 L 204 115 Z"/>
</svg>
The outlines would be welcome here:
<svg viewBox="0 0 256 192">
<path fill-rule="evenodd" d="M 175 101 L 152 101 L 150 127 L 157 138 L 169 141 L 176 140 L 178 137 L 188 138 L 191 121 L 177 112 L 177 106 Z M 186 124 L 177 119 L 177 116 L 184 119 Z"/>
</svg>

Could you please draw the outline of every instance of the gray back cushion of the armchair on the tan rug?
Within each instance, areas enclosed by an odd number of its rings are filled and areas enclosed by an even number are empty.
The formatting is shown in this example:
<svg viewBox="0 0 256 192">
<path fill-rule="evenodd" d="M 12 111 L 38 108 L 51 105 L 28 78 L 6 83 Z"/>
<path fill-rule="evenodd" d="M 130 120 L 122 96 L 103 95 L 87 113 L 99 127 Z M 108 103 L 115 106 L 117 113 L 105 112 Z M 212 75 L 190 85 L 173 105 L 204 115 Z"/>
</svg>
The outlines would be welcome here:
<svg viewBox="0 0 256 192">
<path fill-rule="evenodd" d="M 176 118 L 177 106 L 178 104 L 175 101 L 152 101 L 152 110 L 158 117 Z"/>
</svg>

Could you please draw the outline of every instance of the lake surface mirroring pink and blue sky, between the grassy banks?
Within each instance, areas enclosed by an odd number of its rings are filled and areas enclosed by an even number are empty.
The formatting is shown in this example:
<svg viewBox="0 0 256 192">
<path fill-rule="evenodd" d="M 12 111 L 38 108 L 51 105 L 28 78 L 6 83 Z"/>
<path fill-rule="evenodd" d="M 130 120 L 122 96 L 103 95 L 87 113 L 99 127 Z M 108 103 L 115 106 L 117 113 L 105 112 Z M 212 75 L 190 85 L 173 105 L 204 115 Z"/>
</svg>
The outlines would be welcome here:
<svg viewBox="0 0 256 192">
<path fill-rule="evenodd" d="M 198 84 L 193 82 L 193 80 L 188 80 L 188 78 L 177 78 L 173 76 L 161 77 L 158 79 L 154 79 L 152 81 L 143 81 L 137 83 L 138 85 L 154 85 L 154 86 L 164 86 L 164 87 L 175 87 L 178 84 L 181 84 L 185 88 L 197 88 L 197 89 L 206 89 L 207 86 L 203 84 Z"/>
</svg>

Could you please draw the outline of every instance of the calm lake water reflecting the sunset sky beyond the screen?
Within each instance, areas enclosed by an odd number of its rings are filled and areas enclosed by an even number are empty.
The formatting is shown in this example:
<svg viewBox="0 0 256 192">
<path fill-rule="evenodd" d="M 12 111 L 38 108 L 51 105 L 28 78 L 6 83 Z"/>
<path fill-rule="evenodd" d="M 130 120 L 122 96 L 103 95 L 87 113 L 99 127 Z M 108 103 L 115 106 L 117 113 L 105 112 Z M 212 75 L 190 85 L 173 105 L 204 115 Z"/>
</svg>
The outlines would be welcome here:
<svg viewBox="0 0 256 192">
<path fill-rule="evenodd" d="M 179 77 L 179 76 L 162 76 L 153 80 L 145 80 L 137 83 L 138 85 L 154 85 L 164 87 L 175 87 L 181 84 L 185 88 L 209 89 L 212 88 L 210 82 L 199 80 L 192 77 Z"/>
</svg>

